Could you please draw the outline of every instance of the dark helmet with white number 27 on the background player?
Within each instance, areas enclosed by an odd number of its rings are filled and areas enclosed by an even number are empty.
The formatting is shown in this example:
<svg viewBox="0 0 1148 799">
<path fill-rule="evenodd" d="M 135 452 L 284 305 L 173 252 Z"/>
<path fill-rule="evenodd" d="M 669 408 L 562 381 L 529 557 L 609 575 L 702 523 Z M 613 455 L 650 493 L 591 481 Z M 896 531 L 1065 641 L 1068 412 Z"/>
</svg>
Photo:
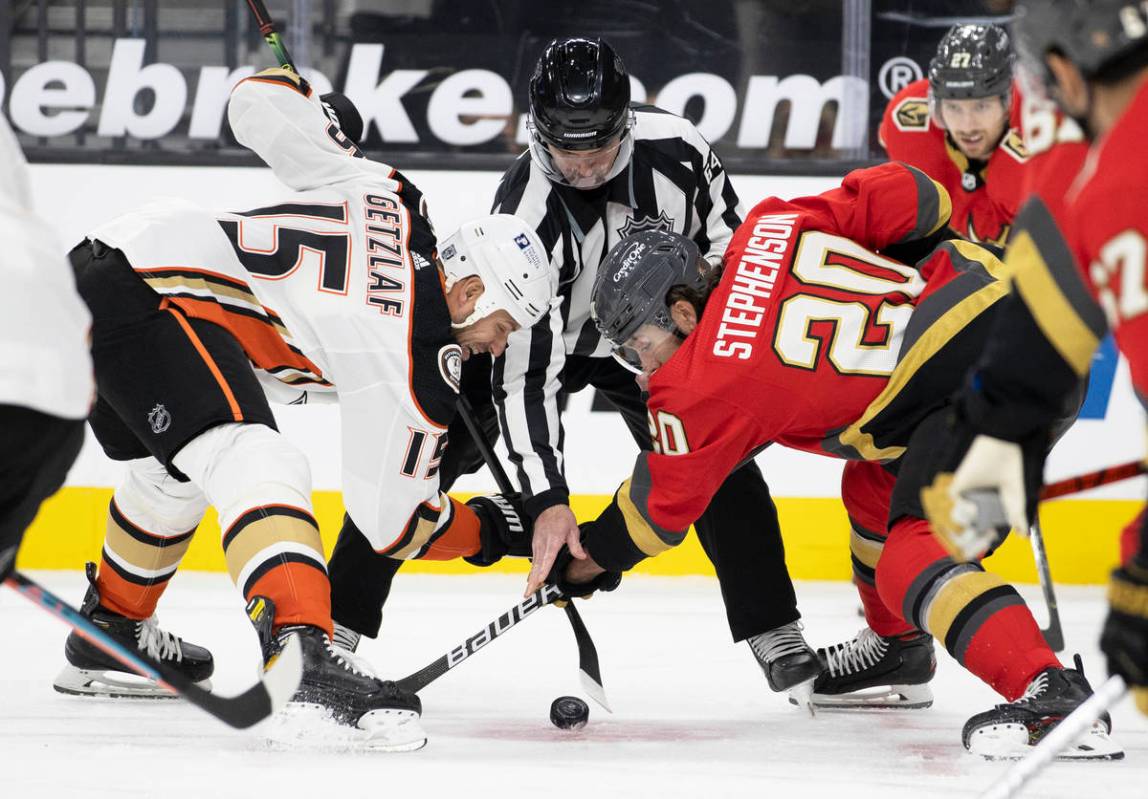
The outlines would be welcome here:
<svg viewBox="0 0 1148 799">
<path fill-rule="evenodd" d="M 929 93 L 938 100 L 1006 95 L 1013 85 L 1013 47 L 1000 25 L 953 25 L 929 62 Z"/>
</svg>

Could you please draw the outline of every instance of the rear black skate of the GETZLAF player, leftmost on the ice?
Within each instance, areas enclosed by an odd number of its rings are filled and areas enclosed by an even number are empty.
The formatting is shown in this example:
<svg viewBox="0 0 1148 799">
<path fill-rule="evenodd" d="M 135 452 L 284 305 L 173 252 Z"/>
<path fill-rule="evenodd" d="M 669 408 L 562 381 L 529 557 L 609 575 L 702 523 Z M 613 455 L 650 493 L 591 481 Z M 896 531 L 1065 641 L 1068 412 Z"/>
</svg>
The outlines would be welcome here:
<svg viewBox="0 0 1148 799">
<path fill-rule="evenodd" d="M 95 564 L 87 564 L 85 573 L 88 588 L 80 613 L 124 646 L 138 649 L 150 658 L 174 667 L 200 688 L 211 689 L 209 677 L 215 670 L 215 661 L 208 650 L 160 629 L 160 620 L 155 615 L 137 621 L 102 607 L 100 592 L 95 587 Z M 68 665 L 52 683 L 61 693 L 111 698 L 178 698 L 158 683 L 127 670 L 123 664 L 95 644 L 88 643 L 79 633 L 72 631 L 68 636 L 64 658 L 68 659 Z"/>
</svg>

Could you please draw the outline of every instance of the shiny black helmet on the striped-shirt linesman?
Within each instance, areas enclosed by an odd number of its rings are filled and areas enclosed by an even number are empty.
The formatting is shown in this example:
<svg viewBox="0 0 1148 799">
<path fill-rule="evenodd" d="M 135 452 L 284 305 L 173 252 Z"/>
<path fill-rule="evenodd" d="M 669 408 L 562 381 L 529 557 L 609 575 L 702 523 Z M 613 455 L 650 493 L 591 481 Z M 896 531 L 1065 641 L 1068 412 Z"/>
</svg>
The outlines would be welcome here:
<svg viewBox="0 0 1148 799">
<path fill-rule="evenodd" d="M 534 133 L 553 147 L 595 149 L 630 121 L 630 78 L 602 39 L 554 39 L 530 78 Z"/>
</svg>

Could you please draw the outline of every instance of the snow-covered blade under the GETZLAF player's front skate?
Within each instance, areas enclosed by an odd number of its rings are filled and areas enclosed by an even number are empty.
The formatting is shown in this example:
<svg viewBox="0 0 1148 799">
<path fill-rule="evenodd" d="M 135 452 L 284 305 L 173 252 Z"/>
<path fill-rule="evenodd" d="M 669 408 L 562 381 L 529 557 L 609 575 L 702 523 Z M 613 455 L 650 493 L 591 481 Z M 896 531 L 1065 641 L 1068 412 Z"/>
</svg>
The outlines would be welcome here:
<svg viewBox="0 0 1148 799">
<path fill-rule="evenodd" d="M 308 703 L 288 704 L 265 722 L 263 732 L 276 750 L 413 752 L 427 743 L 413 711 L 372 711 L 350 727 L 321 705 Z"/>
</svg>

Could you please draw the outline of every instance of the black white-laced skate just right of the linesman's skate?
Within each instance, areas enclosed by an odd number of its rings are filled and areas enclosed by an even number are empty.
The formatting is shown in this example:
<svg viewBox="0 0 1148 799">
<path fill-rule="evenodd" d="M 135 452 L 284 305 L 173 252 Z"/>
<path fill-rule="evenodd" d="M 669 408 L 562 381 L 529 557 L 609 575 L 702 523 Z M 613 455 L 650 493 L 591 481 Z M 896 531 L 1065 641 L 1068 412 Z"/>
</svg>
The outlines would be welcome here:
<svg viewBox="0 0 1148 799">
<path fill-rule="evenodd" d="M 932 705 L 926 684 L 937 670 L 928 633 L 884 638 L 866 627 L 852 641 L 819 649 L 824 670 L 813 706 L 837 709 L 915 709 Z"/>
</svg>

